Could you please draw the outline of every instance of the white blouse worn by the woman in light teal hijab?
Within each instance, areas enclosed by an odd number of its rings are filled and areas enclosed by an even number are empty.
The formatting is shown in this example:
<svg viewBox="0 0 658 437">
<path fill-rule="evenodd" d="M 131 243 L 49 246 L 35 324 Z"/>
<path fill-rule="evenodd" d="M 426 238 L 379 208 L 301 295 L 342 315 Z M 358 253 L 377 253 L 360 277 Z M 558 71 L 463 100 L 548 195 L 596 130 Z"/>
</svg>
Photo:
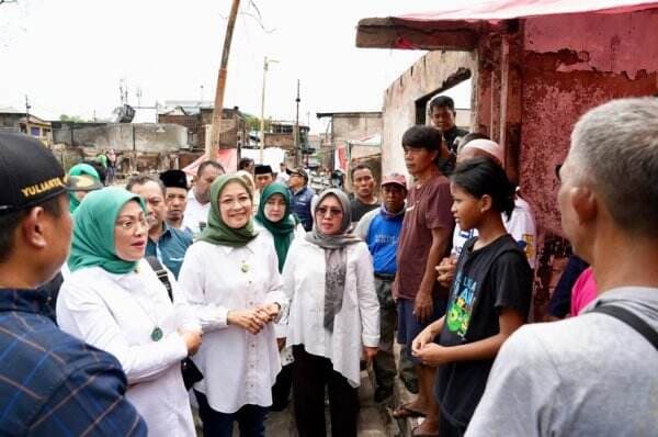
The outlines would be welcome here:
<svg viewBox="0 0 658 437">
<path fill-rule="evenodd" d="M 182 437 L 194 435 L 194 424 L 180 365 L 188 348 L 177 329 L 198 328 L 198 323 L 170 281 L 174 304 L 145 259 L 125 274 L 100 267 L 76 270 L 59 291 L 57 322 L 118 359 L 128 378 L 127 399 L 149 435 Z M 158 341 L 151 338 L 156 327 L 162 330 Z"/>
</svg>

